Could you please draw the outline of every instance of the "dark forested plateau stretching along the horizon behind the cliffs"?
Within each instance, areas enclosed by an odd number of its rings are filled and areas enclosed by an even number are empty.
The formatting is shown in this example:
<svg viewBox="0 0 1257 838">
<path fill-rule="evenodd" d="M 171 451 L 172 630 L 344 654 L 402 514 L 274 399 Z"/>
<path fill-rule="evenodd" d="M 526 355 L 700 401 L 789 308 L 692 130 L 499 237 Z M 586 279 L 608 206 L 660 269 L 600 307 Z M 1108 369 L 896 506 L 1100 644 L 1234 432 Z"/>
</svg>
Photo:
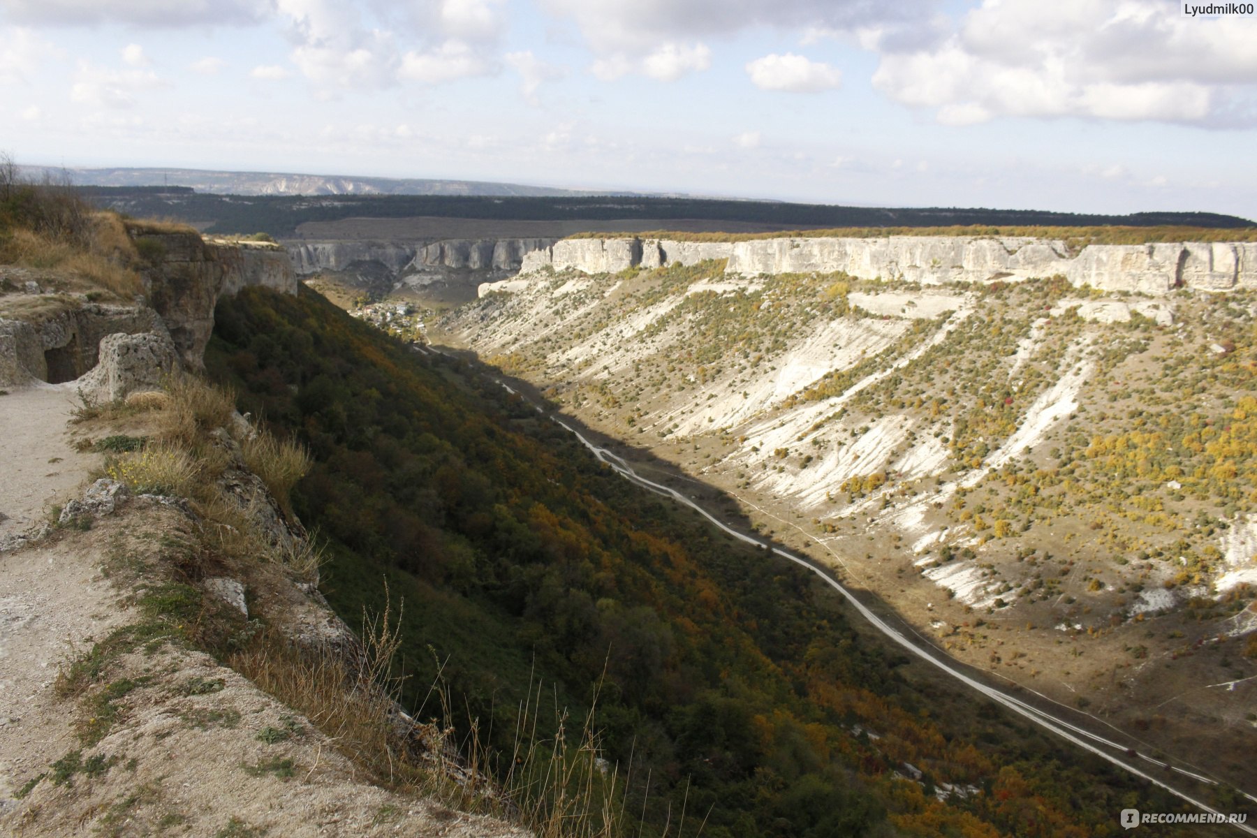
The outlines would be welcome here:
<svg viewBox="0 0 1257 838">
<path fill-rule="evenodd" d="M 1135 212 L 1099 215 L 991 209 L 889 209 L 787 204 L 778 201 L 720 201 L 680 197 L 484 197 L 445 195 L 236 196 L 205 195 L 157 187 L 80 187 L 96 205 L 137 217 L 176 219 L 212 224 L 210 234 L 268 232 L 295 235 L 307 221 L 353 217 L 491 219 L 502 221 L 610 221 L 705 219 L 789 227 L 934 227 L 984 226 L 1193 226 L 1248 227 L 1251 221 L 1213 212 Z M 662 225 L 666 226 L 666 225 Z"/>
</svg>

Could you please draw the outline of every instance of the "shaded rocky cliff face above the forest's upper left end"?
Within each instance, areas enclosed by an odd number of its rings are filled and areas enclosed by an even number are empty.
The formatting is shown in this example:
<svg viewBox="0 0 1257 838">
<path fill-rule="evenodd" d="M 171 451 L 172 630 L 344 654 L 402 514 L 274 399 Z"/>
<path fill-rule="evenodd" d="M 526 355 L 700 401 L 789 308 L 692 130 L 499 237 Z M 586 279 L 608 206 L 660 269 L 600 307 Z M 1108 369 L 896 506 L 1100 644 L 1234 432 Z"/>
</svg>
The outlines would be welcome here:
<svg viewBox="0 0 1257 838">
<path fill-rule="evenodd" d="M 204 240 L 195 232 L 141 234 L 157 254 L 145 271 L 150 304 L 166 323 L 184 363 L 202 366 L 214 330 L 214 307 L 241 288 L 260 285 L 297 293 L 297 274 L 279 245 Z"/>
</svg>

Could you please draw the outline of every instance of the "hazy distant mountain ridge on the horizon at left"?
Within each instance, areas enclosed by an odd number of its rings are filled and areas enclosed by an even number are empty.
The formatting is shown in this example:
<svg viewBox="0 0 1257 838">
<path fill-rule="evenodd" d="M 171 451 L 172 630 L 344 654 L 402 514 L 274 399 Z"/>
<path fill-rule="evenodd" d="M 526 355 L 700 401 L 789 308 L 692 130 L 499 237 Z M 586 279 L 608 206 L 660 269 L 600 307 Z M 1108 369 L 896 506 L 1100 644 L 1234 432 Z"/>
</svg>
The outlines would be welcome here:
<svg viewBox="0 0 1257 838">
<path fill-rule="evenodd" d="M 549 186 L 440 178 L 354 177 L 290 172 L 228 172 L 199 168 L 53 168 L 23 167 L 28 175 L 65 171 L 78 186 L 186 186 L 211 195 L 465 195 L 529 196 L 606 195 Z"/>
</svg>

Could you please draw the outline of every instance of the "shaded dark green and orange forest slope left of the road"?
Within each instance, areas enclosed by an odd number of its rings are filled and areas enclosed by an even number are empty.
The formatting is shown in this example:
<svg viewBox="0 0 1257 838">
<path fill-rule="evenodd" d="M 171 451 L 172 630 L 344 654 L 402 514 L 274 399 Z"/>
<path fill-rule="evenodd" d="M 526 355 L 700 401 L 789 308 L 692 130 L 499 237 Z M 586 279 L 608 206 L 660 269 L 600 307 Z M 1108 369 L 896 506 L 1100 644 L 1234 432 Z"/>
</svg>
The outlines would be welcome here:
<svg viewBox="0 0 1257 838">
<path fill-rule="evenodd" d="M 444 662 L 456 724 L 507 749 L 537 682 L 574 719 L 596 700 L 623 834 L 1081 838 L 1179 809 L 930 680 L 811 573 L 615 476 L 475 363 L 305 288 L 246 289 L 216 323 L 210 374 L 314 456 L 293 505 L 329 541 L 333 607 L 358 624 L 386 580 L 405 601 L 405 702 L 437 715 Z"/>
</svg>

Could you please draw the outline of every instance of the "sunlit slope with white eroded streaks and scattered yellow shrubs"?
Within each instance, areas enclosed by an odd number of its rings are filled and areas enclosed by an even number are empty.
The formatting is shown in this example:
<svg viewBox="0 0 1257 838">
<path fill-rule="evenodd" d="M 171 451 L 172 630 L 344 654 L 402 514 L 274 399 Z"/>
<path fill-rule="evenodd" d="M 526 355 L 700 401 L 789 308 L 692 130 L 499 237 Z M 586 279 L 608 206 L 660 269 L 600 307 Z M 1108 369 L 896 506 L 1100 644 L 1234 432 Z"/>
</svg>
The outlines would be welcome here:
<svg viewBox="0 0 1257 838">
<path fill-rule="evenodd" d="M 515 280 L 445 339 L 965 662 L 1251 780 L 1257 299 L 722 268 Z"/>
</svg>

